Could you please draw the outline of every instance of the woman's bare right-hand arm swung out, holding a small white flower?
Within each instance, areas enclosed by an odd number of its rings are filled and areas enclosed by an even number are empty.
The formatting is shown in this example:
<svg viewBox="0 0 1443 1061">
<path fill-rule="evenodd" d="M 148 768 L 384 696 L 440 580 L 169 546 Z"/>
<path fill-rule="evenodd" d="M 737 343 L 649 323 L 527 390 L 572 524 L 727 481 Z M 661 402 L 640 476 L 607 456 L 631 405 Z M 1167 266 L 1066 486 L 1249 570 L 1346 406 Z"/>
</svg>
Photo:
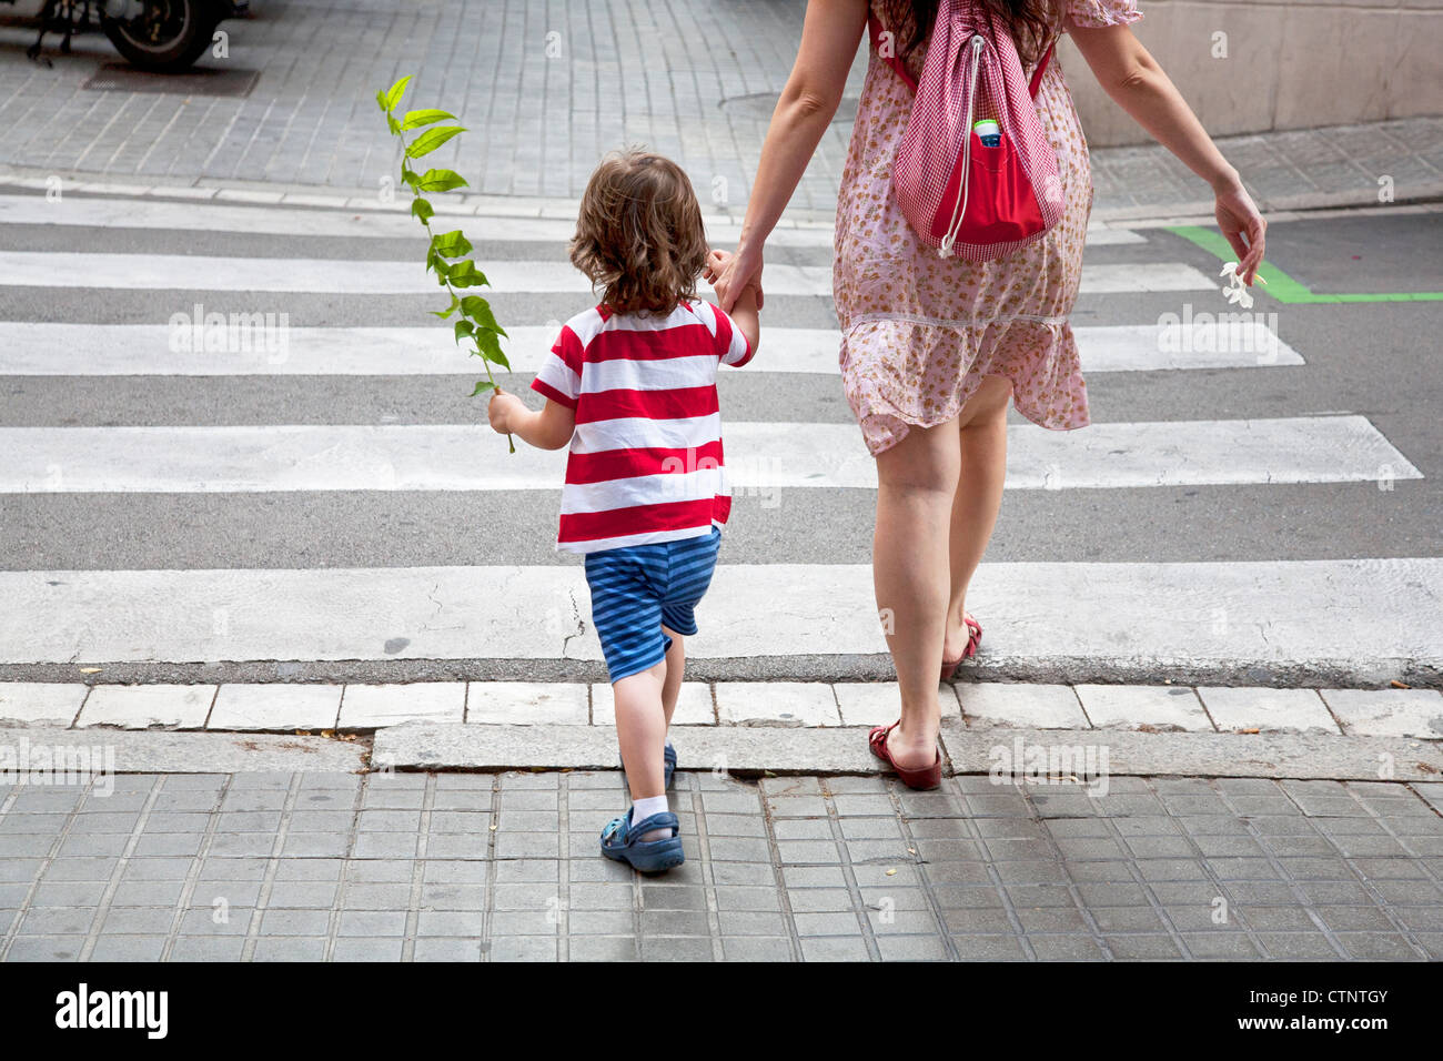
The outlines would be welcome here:
<svg viewBox="0 0 1443 1061">
<path fill-rule="evenodd" d="M 1263 264 L 1267 221 L 1177 87 L 1127 26 L 1088 29 L 1069 22 L 1068 33 L 1102 91 L 1211 185 L 1218 201 L 1218 225 L 1238 256 L 1238 273 L 1251 284 Z"/>
</svg>

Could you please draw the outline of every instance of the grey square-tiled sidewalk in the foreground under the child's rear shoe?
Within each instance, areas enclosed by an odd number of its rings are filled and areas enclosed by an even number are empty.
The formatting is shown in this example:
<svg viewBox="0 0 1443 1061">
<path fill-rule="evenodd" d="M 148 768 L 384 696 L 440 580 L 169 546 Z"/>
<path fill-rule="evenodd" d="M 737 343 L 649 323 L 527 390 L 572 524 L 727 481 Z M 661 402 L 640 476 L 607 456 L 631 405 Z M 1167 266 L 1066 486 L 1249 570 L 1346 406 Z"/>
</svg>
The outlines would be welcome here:
<svg viewBox="0 0 1443 1061">
<path fill-rule="evenodd" d="M 1443 959 L 1443 784 L 683 772 L 655 879 L 596 852 L 620 807 L 616 772 L 0 788 L 0 959 Z"/>
</svg>

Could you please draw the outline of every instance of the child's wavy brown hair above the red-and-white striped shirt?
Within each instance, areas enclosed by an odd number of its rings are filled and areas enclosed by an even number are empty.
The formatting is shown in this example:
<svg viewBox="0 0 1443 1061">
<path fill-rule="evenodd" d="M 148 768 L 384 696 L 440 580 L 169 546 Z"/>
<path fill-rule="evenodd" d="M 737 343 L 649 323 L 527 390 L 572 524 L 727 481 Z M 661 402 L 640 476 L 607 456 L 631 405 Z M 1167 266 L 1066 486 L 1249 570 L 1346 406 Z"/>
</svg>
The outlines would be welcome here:
<svg viewBox="0 0 1443 1061">
<path fill-rule="evenodd" d="M 639 147 L 610 152 L 586 185 L 570 256 L 619 313 L 670 313 L 697 297 L 707 235 L 681 166 Z"/>
</svg>

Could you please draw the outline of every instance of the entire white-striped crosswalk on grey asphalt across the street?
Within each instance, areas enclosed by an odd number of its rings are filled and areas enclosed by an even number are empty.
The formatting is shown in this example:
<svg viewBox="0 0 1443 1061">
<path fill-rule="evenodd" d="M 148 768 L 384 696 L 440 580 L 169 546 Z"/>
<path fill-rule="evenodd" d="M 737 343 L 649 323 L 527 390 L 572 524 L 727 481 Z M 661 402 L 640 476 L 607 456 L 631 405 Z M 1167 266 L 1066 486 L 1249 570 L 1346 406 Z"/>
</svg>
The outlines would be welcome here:
<svg viewBox="0 0 1443 1061">
<path fill-rule="evenodd" d="M 566 263 L 569 222 L 456 224 L 492 281 L 488 297 L 511 332 L 509 385 L 524 391 L 557 322 L 587 305 L 586 280 Z M 709 228 L 719 245 L 734 238 L 726 224 Z M 550 524 L 564 455 L 508 455 L 479 401 L 424 404 L 439 385 L 462 391 L 481 367 L 426 323 L 436 287 L 416 231 L 385 209 L 0 193 L 10 318 L 0 320 L 0 514 L 10 524 L 0 676 L 59 664 L 160 673 L 600 658 L 577 564 L 537 563 L 518 547 Z M 831 232 L 778 230 L 775 243 L 788 253 L 768 264 L 768 294 L 786 297 L 763 313 L 755 365 L 722 384 L 733 524 L 743 524 L 729 537 L 784 540 L 788 557 L 812 560 L 723 553 L 688 650 L 717 674 L 799 676 L 791 661 L 815 674 L 818 660 L 846 670 L 885 652 L 870 569 L 856 562 L 863 546 L 830 543 L 833 528 L 808 518 L 866 511 L 876 489 L 841 400 Z M 1059 498 L 1049 518 L 1063 531 L 1107 534 L 1087 525 L 1081 502 L 1097 491 L 1141 501 L 1229 488 L 1392 491 L 1423 478 L 1368 416 L 1209 410 L 1209 394 L 1232 381 L 1283 385 L 1309 371 L 1309 351 L 1266 313 L 1225 313 L 1209 264 L 1182 260 L 1176 243 L 1097 228 L 1088 247 L 1092 309 L 1076 333 L 1089 390 L 1183 374 L 1199 397 L 1188 416 L 1137 409 L 1078 432 L 1010 424 L 1007 486 Z M 111 294 L 76 312 L 76 299 L 55 297 L 65 292 Z M 828 318 L 833 326 L 817 326 Z M 468 525 L 429 515 L 450 495 L 465 499 Z M 335 498 L 367 498 L 365 511 L 384 518 L 345 527 L 306 564 L 235 562 L 238 540 L 274 536 L 280 549 L 307 514 L 345 511 Z M 1061 504 L 1069 498 L 1074 508 Z M 407 557 L 426 556 L 410 537 L 417 527 L 449 543 L 483 528 L 485 562 L 392 564 L 403 538 Z M 176 536 L 198 546 L 185 563 L 163 544 Z M 131 566 L 108 563 L 107 537 L 131 543 Z M 89 566 L 46 563 L 84 554 L 92 538 Z M 1306 674 L 1349 658 L 1378 676 L 1400 660 L 1439 663 L 1426 616 L 1443 614 L 1443 562 L 1278 557 L 1267 544 L 1264 559 L 1100 562 L 1079 546 L 987 562 L 970 603 L 988 626 L 980 668 L 1056 677 L 1068 661 L 1101 660 L 1118 677 L 1159 680 L 1170 670 Z"/>
</svg>

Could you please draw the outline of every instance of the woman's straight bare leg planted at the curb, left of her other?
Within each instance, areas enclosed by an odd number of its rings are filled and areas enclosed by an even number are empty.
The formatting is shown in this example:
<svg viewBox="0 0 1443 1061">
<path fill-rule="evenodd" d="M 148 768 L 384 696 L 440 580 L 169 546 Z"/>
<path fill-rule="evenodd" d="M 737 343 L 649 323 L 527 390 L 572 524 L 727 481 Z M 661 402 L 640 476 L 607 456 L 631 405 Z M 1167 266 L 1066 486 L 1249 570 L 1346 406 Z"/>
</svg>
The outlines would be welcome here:
<svg viewBox="0 0 1443 1061">
<path fill-rule="evenodd" d="M 947 626 L 948 550 L 961 465 L 957 422 L 913 427 L 877 456 L 872 572 L 877 609 L 902 691 L 902 723 L 887 738 L 893 762 L 937 762 L 937 700 Z"/>
</svg>

